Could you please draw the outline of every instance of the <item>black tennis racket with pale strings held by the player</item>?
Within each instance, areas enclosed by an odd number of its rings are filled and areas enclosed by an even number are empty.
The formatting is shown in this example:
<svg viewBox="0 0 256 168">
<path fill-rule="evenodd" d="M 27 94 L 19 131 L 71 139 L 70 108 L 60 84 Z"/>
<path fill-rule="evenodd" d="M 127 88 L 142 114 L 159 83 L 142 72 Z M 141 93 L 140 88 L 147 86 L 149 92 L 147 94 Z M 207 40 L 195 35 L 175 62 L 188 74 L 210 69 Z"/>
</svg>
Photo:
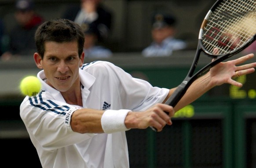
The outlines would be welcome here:
<svg viewBox="0 0 256 168">
<path fill-rule="evenodd" d="M 197 78 L 221 61 L 244 50 L 255 40 L 255 34 L 255 0 L 217 0 L 202 22 L 197 51 L 189 72 L 165 104 L 175 107 Z M 218 53 L 213 49 L 218 49 Z M 215 60 L 194 73 L 202 51 Z"/>
</svg>

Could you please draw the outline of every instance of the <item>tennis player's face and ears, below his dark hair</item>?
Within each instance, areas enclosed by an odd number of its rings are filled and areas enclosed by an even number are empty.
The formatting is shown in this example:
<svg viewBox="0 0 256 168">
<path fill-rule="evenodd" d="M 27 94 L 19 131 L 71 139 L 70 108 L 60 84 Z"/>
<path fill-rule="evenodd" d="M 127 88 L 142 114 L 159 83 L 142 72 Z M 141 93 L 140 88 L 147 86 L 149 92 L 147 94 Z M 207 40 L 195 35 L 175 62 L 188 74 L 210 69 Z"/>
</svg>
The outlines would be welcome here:
<svg viewBox="0 0 256 168">
<path fill-rule="evenodd" d="M 79 67 L 83 61 L 84 53 L 79 58 L 77 42 L 46 42 L 44 58 L 36 63 L 37 67 L 44 69 L 48 85 L 66 92 L 80 86 Z"/>
</svg>

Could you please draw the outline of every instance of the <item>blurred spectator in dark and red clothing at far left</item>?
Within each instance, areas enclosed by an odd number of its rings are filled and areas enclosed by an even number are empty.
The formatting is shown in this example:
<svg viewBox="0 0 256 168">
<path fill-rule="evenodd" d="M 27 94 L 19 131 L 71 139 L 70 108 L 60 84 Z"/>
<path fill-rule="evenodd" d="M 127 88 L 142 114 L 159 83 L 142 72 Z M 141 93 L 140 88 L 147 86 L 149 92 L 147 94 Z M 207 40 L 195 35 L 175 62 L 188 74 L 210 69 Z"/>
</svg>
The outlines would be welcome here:
<svg viewBox="0 0 256 168">
<path fill-rule="evenodd" d="M 15 7 L 17 25 L 9 34 L 9 50 L 2 54 L 2 60 L 31 55 L 37 51 L 34 34 L 43 18 L 34 11 L 32 0 L 17 0 Z"/>
</svg>

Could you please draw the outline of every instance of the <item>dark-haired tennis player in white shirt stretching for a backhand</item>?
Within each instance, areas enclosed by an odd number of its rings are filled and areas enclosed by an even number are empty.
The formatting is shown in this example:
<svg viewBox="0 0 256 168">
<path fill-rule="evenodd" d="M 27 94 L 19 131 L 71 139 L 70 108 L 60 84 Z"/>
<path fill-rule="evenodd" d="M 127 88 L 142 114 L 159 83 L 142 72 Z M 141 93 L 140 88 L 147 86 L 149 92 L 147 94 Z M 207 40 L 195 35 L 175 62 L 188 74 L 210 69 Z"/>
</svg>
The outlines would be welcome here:
<svg viewBox="0 0 256 168">
<path fill-rule="evenodd" d="M 107 61 L 83 64 L 84 34 L 73 21 L 46 21 L 35 39 L 42 89 L 35 97 L 25 97 L 20 116 L 43 168 L 128 168 L 125 131 L 149 126 L 161 131 L 172 125 L 175 111 L 214 86 L 241 87 L 232 77 L 252 73 L 256 67 L 236 66 L 253 54 L 219 63 L 173 108 L 162 103 L 175 88 L 153 87 Z"/>
</svg>

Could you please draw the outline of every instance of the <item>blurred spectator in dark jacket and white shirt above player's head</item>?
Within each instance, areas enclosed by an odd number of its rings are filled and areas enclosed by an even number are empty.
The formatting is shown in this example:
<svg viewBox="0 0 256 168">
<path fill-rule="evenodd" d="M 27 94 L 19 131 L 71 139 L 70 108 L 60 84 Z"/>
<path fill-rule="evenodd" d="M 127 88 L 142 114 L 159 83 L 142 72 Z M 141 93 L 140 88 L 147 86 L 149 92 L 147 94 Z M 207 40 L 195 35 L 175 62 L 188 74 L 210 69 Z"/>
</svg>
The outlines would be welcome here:
<svg viewBox="0 0 256 168">
<path fill-rule="evenodd" d="M 97 24 L 99 43 L 105 43 L 110 34 L 112 13 L 102 4 L 102 0 L 81 0 L 79 6 L 69 7 L 62 18 L 76 22 L 83 29 L 90 23 Z"/>
</svg>

